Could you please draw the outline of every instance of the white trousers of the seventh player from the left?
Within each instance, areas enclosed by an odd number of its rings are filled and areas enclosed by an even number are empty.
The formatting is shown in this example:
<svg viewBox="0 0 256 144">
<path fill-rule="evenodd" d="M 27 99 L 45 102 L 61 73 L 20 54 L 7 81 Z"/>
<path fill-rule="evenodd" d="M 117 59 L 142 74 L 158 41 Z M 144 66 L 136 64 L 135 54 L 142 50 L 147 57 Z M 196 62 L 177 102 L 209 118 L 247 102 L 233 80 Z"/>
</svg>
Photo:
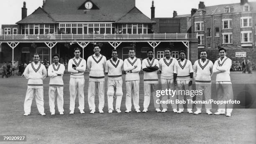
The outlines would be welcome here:
<svg viewBox="0 0 256 144">
<path fill-rule="evenodd" d="M 158 84 L 144 84 L 144 102 L 143 102 L 144 108 L 148 108 L 151 94 L 153 95 L 153 99 L 154 99 L 154 107 L 156 109 L 160 108 L 160 104 L 156 103 L 157 99 L 159 99 L 159 97 L 156 97 L 157 89 L 159 89 Z"/>
</svg>

